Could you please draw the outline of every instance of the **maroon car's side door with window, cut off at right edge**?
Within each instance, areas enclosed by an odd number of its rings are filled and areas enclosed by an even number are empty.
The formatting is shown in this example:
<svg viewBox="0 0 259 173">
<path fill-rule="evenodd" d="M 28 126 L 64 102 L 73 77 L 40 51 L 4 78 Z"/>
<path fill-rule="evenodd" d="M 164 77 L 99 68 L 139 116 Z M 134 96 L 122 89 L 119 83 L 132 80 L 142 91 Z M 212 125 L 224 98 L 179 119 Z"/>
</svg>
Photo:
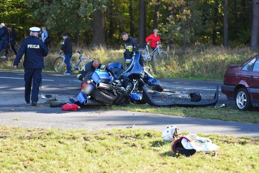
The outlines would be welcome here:
<svg viewBox="0 0 259 173">
<path fill-rule="evenodd" d="M 251 100 L 259 101 L 259 56 L 255 57 L 254 64 L 247 71 L 246 83 L 250 88 Z"/>
</svg>

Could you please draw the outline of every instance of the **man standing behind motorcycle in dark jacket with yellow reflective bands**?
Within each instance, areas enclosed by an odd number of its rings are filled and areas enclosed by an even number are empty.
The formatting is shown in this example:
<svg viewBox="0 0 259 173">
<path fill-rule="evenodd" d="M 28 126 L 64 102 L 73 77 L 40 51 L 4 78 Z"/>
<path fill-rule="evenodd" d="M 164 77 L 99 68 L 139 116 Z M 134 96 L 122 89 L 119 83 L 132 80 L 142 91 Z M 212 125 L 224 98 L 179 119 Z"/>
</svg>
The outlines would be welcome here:
<svg viewBox="0 0 259 173">
<path fill-rule="evenodd" d="M 123 61 L 125 61 L 126 65 L 128 66 L 131 62 L 133 53 L 139 50 L 138 43 L 133 37 L 129 36 L 126 32 L 123 32 L 121 34 L 121 37 L 124 40 Z"/>
</svg>

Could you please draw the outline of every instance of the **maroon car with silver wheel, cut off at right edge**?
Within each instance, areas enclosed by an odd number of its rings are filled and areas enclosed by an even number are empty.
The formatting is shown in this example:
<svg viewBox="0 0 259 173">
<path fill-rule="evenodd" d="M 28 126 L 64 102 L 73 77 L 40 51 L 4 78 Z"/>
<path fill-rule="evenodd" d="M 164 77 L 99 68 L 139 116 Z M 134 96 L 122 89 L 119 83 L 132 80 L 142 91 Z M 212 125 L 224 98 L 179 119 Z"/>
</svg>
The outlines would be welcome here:
<svg viewBox="0 0 259 173">
<path fill-rule="evenodd" d="M 221 92 L 241 111 L 259 106 L 259 54 L 242 65 L 229 65 Z"/>
</svg>

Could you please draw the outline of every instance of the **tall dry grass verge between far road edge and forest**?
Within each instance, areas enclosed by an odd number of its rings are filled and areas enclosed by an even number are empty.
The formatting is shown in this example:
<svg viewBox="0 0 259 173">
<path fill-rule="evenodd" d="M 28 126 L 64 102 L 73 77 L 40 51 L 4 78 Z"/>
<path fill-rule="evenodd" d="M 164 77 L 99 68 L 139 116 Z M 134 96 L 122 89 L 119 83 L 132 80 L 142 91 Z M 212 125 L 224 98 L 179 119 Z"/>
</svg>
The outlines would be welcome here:
<svg viewBox="0 0 259 173">
<path fill-rule="evenodd" d="M 185 52 L 181 48 L 167 50 L 169 61 L 166 63 L 154 64 L 153 60 L 145 62 L 151 67 L 156 78 L 183 78 L 183 79 L 207 79 L 222 80 L 229 64 L 242 64 L 249 58 L 256 55 L 256 52 L 249 47 L 230 48 L 225 50 L 222 46 L 208 46 L 197 44 L 188 48 Z M 54 72 L 53 63 L 58 57 L 59 48 L 49 48 L 50 52 L 44 58 L 44 72 Z M 108 65 L 110 62 L 123 62 L 123 49 L 106 48 L 74 48 L 84 51 L 84 57 L 90 57 L 92 60 L 99 60 L 102 64 Z M 13 57 L 0 59 L 1 70 L 13 70 Z M 73 56 L 72 61 L 77 61 L 78 56 Z M 17 70 L 22 70 L 21 61 Z M 124 64 L 125 66 L 125 64 Z M 76 72 L 74 72 L 76 73 Z"/>
</svg>

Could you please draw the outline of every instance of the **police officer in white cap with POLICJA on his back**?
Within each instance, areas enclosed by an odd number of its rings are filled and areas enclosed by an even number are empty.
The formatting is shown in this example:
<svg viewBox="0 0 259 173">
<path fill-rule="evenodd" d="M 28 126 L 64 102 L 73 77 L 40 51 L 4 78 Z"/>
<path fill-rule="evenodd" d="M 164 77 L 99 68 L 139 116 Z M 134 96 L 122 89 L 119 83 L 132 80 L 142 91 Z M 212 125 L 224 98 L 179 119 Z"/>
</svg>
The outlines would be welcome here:
<svg viewBox="0 0 259 173">
<path fill-rule="evenodd" d="M 33 106 L 36 106 L 37 101 L 39 100 L 38 94 L 40 90 L 42 69 L 45 68 L 43 57 L 48 55 L 48 50 L 43 41 L 38 39 L 39 32 L 40 28 L 38 27 L 30 28 L 30 36 L 22 41 L 22 45 L 13 62 L 13 67 L 16 69 L 23 54 L 25 54 L 23 61 L 25 101 L 27 104 L 30 104 L 30 93 L 32 92 L 31 105 Z"/>
</svg>

